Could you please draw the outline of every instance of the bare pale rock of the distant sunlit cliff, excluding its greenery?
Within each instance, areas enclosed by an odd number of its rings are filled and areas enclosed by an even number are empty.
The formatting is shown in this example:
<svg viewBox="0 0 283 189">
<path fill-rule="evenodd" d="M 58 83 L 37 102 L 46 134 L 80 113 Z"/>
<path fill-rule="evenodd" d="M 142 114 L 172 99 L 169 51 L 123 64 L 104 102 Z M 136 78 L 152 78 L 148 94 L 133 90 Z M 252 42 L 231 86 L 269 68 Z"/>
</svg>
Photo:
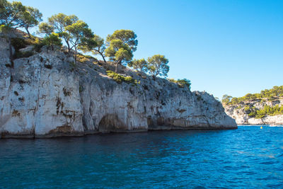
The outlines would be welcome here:
<svg viewBox="0 0 283 189">
<path fill-rule="evenodd" d="M 238 125 L 283 125 L 283 115 L 265 116 L 264 118 L 254 118 L 250 116 L 250 110 L 245 110 L 246 107 L 256 108 L 261 110 L 268 106 L 283 105 L 283 98 L 277 98 L 273 101 L 253 100 L 245 101 L 236 105 L 224 105 L 227 115 L 234 118 Z"/>
</svg>

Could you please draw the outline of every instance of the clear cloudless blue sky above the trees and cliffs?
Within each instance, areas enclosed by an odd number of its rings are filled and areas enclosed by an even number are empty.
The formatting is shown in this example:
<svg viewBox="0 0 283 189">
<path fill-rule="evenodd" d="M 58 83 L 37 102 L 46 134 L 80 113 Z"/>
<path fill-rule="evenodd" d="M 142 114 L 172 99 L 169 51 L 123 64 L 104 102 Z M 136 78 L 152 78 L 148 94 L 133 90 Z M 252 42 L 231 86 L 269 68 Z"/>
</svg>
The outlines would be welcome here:
<svg viewBox="0 0 283 189">
<path fill-rule="evenodd" d="M 75 14 L 103 38 L 134 30 L 134 58 L 165 55 L 168 78 L 190 79 L 192 91 L 240 97 L 283 85 L 283 1 L 20 1 L 44 21 Z"/>
</svg>

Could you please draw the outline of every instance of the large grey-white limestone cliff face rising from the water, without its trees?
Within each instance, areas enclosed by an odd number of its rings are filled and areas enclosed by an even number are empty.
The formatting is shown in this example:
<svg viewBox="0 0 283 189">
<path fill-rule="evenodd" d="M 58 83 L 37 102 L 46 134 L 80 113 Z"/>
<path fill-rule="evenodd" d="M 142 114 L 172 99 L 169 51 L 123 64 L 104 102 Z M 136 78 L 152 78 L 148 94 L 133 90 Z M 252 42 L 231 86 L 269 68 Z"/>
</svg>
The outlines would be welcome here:
<svg viewBox="0 0 283 189">
<path fill-rule="evenodd" d="M 42 52 L 8 59 L 0 40 L 0 135 L 80 136 L 98 132 L 233 129 L 236 122 L 212 95 L 166 79 L 120 68 L 138 84 L 117 84 L 111 65 L 77 62 L 67 53 Z"/>
</svg>

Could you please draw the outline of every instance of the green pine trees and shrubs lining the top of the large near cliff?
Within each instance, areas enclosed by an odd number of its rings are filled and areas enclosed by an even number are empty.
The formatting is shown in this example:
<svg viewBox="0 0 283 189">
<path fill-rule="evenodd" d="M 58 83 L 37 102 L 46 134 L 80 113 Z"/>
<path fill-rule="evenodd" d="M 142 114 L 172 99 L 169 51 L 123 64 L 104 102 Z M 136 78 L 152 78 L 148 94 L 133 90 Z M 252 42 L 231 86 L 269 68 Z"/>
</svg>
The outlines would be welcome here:
<svg viewBox="0 0 283 189">
<path fill-rule="evenodd" d="M 137 34 L 133 30 L 115 30 L 104 40 L 93 33 L 88 24 L 79 20 L 75 15 L 66 15 L 64 13 L 54 14 L 47 18 L 47 22 L 42 21 L 42 13 L 37 8 L 23 6 L 21 2 L 13 1 L 10 3 L 6 0 L 0 0 L 0 30 L 1 37 L 5 37 L 9 43 L 11 60 L 18 57 L 33 55 L 33 52 L 18 51 L 23 47 L 17 47 L 18 44 L 11 42 L 11 31 L 16 28 L 24 28 L 30 38 L 29 45 L 33 45 L 36 52 L 39 52 L 44 45 L 52 47 L 52 50 L 61 50 L 62 42 L 67 46 L 67 52 L 74 55 L 76 63 L 78 52 L 93 53 L 100 55 L 103 61 L 108 64 L 115 63 L 115 72 L 119 65 L 132 67 L 136 71 L 144 72 L 153 77 L 161 76 L 166 78 L 169 71 L 168 59 L 164 55 L 153 55 L 147 59 L 133 59 L 134 52 L 137 50 Z M 29 28 L 38 25 L 38 33 L 45 34 L 44 39 L 38 39 L 30 35 Z M 19 45 L 21 45 L 20 42 Z M 16 55 L 13 56 L 12 46 L 16 48 Z M 25 45 L 26 47 L 27 45 Z M 55 46 L 59 48 L 54 48 Z M 26 54 L 26 55 L 25 55 Z M 80 62 L 81 59 L 79 59 Z M 13 67 L 13 65 L 12 65 Z M 139 73 L 140 74 L 140 73 Z M 116 78 L 120 78 L 116 76 Z M 120 78 L 121 79 L 121 78 Z M 117 79 L 117 81 L 120 81 Z M 123 79 L 122 79 L 123 81 Z M 127 81 L 127 79 L 126 79 Z M 190 80 L 178 79 L 180 87 L 187 86 L 190 88 Z"/>
</svg>

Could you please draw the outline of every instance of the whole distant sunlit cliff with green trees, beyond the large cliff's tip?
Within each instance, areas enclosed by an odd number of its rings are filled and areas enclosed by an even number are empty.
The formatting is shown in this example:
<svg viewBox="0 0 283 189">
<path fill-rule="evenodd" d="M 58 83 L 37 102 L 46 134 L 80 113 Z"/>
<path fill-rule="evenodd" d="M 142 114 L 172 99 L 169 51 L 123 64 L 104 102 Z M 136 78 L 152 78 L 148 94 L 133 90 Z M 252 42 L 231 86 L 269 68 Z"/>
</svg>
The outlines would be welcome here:
<svg viewBox="0 0 283 189">
<path fill-rule="evenodd" d="M 283 125 L 283 86 L 241 98 L 224 96 L 222 103 L 238 125 Z"/>
</svg>

